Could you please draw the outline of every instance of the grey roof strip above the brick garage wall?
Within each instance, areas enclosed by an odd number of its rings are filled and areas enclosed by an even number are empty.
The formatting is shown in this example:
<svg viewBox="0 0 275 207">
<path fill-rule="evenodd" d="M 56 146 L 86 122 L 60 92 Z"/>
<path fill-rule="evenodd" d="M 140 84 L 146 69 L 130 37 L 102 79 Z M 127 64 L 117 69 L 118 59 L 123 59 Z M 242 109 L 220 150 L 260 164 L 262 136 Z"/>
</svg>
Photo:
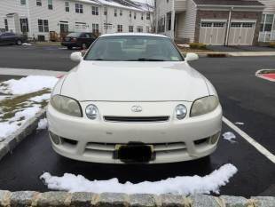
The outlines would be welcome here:
<svg viewBox="0 0 275 207">
<path fill-rule="evenodd" d="M 249 0 L 193 0 L 197 5 L 228 5 L 228 6 L 264 6 L 258 1 Z"/>
</svg>

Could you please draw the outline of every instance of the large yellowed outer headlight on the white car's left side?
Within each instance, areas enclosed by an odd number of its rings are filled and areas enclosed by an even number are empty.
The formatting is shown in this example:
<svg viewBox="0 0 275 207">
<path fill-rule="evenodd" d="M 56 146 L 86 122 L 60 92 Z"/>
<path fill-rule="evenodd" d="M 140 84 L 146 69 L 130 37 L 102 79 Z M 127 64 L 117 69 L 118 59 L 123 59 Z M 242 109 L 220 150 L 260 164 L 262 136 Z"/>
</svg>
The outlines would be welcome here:
<svg viewBox="0 0 275 207">
<path fill-rule="evenodd" d="M 54 95 L 51 97 L 51 106 L 66 115 L 82 117 L 82 110 L 77 100 L 66 96 Z"/>
</svg>

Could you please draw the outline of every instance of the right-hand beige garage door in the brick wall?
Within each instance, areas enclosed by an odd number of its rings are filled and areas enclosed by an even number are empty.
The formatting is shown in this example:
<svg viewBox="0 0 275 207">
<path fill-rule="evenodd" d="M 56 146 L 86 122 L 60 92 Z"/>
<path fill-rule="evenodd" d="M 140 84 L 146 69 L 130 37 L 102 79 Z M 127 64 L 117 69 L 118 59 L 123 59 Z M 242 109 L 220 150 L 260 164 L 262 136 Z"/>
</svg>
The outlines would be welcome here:
<svg viewBox="0 0 275 207">
<path fill-rule="evenodd" d="M 255 22 L 232 22 L 228 37 L 229 45 L 252 45 Z"/>
</svg>

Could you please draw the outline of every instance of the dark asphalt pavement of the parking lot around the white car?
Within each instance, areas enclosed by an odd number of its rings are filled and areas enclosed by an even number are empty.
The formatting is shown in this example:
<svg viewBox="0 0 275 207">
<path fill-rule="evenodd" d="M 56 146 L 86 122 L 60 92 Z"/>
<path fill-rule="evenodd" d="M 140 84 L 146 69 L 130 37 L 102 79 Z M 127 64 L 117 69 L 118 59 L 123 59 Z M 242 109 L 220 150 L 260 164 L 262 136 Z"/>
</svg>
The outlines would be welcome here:
<svg viewBox="0 0 275 207">
<path fill-rule="evenodd" d="M 43 47 L 38 49 L 36 47 L 31 47 L 31 49 L 19 47 L 18 51 L 15 49 L 16 47 L 11 48 L 0 47 L 0 68 L 68 71 L 75 66 L 75 63 L 70 62 L 68 58 L 70 51 L 59 49 L 59 47 L 55 47 L 49 53 L 48 49 Z M 8 50 L 14 52 L 6 55 L 5 52 Z M 35 57 L 32 56 L 34 53 Z M 43 59 L 44 53 L 47 53 L 47 60 L 51 61 L 39 61 L 39 59 Z M 5 55 L 5 59 L 2 58 L 3 55 Z M 192 62 L 191 65 L 215 85 L 224 109 L 224 116 L 232 123 L 244 123 L 239 126 L 240 129 L 274 154 L 275 85 L 255 77 L 255 72 L 263 68 L 275 68 L 275 58 L 200 58 L 200 60 Z M 144 180 L 160 180 L 185 175 L 203 176 L 224 163 L 232 163 L 239 171 L 229 184 L 221 188 L 221 194 L 275 195 L 275 164 L 224 123 L 223 133 L 225 131 L 234 132 L 237 142 L 230 143 L 221 138 L 219 147 L 210 156 L 210 160 L 201 159 L 185 163 L 141 166 L 95 164 L 68 160 L 53 152 L 46 131 L 35 131 L 10 155 L 6 155 L 0 161 L 0 188 L 47 191 L 39 179 L 43 171 L 49 171 L 52 175 L 57 176 L 69 172 L 82 174 L 87 179 L 118 178 L 121 182 L 137 183 Z"/>
</svg>

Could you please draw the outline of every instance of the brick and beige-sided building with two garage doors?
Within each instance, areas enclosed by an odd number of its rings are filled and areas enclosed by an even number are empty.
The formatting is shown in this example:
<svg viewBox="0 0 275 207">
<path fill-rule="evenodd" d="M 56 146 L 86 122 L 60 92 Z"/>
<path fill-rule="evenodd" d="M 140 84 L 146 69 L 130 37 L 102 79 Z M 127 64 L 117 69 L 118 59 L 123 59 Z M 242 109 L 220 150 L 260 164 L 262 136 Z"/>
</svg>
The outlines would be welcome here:
<svg viewBox="0 0 275 207">
<path fill-rule="evenodd" d="M 274 0 L 156 0 L 158 33 L 182 43 L 253 45 L 274 40 Z"/>
</svg>

